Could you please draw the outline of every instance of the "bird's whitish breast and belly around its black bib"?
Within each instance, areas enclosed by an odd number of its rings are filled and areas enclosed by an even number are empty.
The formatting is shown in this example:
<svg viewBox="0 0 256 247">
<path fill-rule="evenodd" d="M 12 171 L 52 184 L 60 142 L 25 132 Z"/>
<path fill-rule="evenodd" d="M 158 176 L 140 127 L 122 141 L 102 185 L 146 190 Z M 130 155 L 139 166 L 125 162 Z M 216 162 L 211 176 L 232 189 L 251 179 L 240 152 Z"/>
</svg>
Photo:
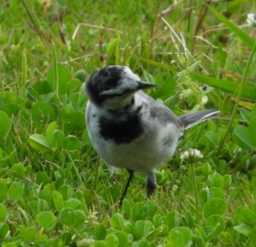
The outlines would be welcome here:
<svg viewBox="0 0 256 247">
<path fill-rule="evenodd" d="M 135 97 L 136 104 L 147 104 L 147 100 L 147 96 L 144 98 L 141 94 Z M 183 133 L 183 129 L 174 123 L 164 124 L 157 118 L 151 118 L 146 108 L 141 111 L 143 134 L 132 142 L 116 145 L 116 142 L 100 136 L 100 114 L 100 109 L 88 102 L 86 122 L 91 143 L 102 160 L 113 167 L 149 172 L 173 156 L 178 138 Z"/>
</svg>

